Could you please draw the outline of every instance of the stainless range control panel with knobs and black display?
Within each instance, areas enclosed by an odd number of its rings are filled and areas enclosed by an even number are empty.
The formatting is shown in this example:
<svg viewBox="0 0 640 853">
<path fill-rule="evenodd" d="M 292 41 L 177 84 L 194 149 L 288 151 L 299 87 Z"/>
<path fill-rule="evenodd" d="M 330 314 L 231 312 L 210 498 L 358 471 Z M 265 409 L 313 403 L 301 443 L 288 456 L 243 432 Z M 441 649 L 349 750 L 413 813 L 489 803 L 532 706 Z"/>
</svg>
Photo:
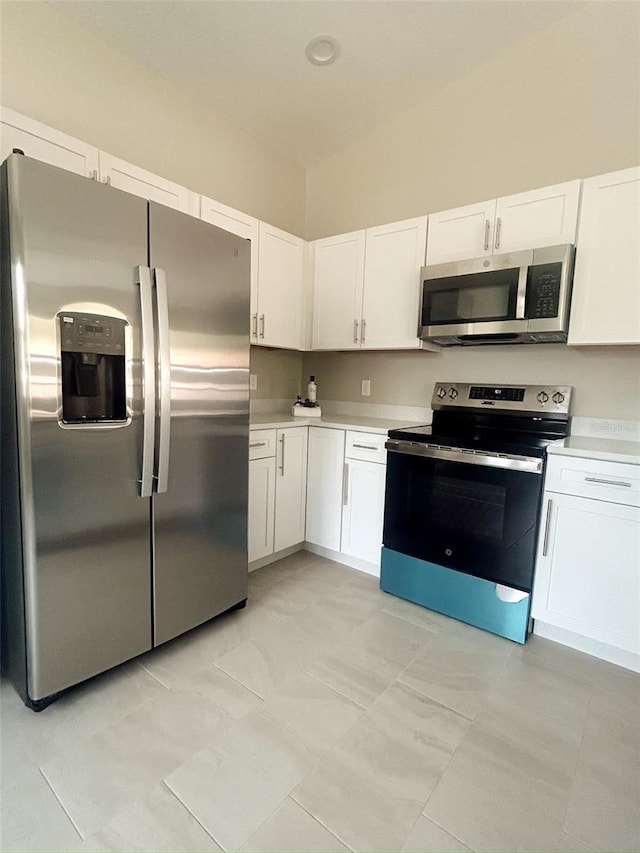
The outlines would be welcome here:
<svg viewBox="0 0 640 853">
<path fill-rule="evenodd" d="M 568 415 L 570 385 L 479 385 L 436 382 L 431 408 L 486 409 Z"/>
</svg>

